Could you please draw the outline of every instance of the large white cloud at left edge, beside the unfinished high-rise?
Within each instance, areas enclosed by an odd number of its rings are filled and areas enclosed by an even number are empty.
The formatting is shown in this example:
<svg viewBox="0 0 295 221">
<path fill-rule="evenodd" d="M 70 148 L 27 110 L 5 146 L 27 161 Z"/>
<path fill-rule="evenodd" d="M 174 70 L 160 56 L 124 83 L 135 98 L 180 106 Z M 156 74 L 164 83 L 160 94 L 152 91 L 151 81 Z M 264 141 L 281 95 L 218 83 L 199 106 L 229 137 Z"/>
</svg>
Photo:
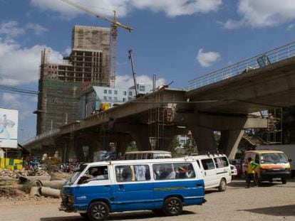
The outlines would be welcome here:
<svg viewBox="0 0 295 221">
<path fill-rule="evenodd" d="M 33 23 L 28 23 L 24 28 L 19 27 L 16 21 L 0 24 L 0 84 L 2 85 L 19 85 L 38 81 L 41 50 L 47 48 L 46 45 L 23 48 L 14 39 L 28 29 L 33 29 L 36 34 L 47 31 L 47 28 Z M 51 49 L 52 62 L 61 62 L 62 58 L 61 53 Z"/>
</svg>

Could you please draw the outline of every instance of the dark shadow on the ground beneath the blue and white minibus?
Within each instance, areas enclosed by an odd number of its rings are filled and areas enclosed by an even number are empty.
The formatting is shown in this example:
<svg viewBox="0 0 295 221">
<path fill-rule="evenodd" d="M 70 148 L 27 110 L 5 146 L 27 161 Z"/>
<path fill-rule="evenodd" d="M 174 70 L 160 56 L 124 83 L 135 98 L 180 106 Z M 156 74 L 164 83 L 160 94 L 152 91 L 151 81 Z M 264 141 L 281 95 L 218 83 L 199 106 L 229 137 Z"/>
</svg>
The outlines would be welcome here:
<svg viewBox="0 0 295 221">
<path fill-rule="evenodd" d="M 195 214 L 195 212 L 183 210 L 182 215 L 191 215 Z M 156 218 L 156 217 L 165 217 L 164 214 L 155 214 L 151 211 L 138 211 L 138 212 L 115 212 L 111 213 L 108 217 L 108 220 L 143 220 L 148 218 Z M 70 217 L 44 217 L 41 218 L 41 221 L 82 221 L 85 220 L 83 217 L 79 216 L 78 213 L 75 216 Z"/>
</svg>

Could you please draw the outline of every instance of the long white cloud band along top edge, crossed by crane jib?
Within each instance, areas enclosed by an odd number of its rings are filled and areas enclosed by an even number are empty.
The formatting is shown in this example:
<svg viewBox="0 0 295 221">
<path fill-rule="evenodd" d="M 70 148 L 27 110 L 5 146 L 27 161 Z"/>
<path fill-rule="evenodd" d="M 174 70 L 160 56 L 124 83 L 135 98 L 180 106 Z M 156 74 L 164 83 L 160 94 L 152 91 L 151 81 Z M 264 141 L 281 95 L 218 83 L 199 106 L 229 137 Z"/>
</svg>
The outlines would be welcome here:
<svg viewBox="0 0 295 221">
<path fill-rule="evenodd" d="M 182 16 L 216 11 L 222 5 L 222 0 L 88 0 L 87 4 L 81 0 L 73 2 L 105 16 L 113 16 L 113 10 L 118 12 L 118 16 L 126 16 L 135 9 L 164 11 L 167 16 Z M 42 10 L 58 11 L 62 16 L 73 17 L 82 13 L 60 0 L 31 0 L 31 4 Z"/>
</svg>

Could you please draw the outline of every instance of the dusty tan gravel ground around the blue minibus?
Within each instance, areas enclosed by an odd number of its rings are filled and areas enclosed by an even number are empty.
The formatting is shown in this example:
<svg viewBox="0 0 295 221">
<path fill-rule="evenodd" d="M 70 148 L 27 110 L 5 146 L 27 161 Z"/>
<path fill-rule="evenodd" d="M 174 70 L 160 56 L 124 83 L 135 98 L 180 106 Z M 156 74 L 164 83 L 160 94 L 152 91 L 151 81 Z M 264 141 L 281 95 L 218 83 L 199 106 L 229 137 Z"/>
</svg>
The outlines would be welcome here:
<svg viewBox="0 0 295 221">
<path fill-rule="evenodd" d="M 108 220 L 295 220 L 295 180 L 286 185 L 265 183 L 244 188 L 244 180 L 234 180 L 223 193 L 209 190 L 207 203 L 184 207 L 182 215 L 165 217 L 150 211 L 120 212 Z M 78 213 L 58 211 L 60 200 L 51 198 L 0 198 L 0 220 L 66 221 L 83 220 Z"/>
</svg>

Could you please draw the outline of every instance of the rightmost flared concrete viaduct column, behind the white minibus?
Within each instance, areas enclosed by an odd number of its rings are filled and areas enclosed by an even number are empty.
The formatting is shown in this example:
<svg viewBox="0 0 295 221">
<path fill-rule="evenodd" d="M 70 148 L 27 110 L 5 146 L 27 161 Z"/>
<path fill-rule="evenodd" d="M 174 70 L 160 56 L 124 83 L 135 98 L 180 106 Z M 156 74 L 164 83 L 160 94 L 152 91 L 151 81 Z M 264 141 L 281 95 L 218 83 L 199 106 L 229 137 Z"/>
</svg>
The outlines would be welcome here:
<svg viewBox="0 0 295 221">
<path fill-rule="evenodd" d="M 233 159 L 243 135 L 244 129 L 221 131 L 218 149 L 222 149 L 228 158 Z"/>
</svg>

